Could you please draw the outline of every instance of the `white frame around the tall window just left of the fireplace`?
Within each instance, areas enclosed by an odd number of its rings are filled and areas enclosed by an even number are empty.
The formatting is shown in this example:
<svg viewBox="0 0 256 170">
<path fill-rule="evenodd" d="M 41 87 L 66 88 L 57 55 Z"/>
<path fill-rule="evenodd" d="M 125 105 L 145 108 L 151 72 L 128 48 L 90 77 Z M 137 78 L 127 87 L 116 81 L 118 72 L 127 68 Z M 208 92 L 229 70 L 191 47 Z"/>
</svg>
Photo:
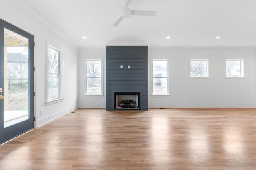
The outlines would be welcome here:
<svg viewBox="0 0 256 170">
<path fill-rule="evenodd" d="M 97 61 L 100 61 L 101 62 L 101 94 L 86 94 L 86 89 L 87 89 L 87 61 L 92 61 L 92 60 L 97 60 Z M 94 57 L 94 58 L 85 58 L 84 59 L 84 96 L 95 96 L 95 97 L 103 97 L 103 58 L 97 58 L 97 57 Z"/>
</svg>

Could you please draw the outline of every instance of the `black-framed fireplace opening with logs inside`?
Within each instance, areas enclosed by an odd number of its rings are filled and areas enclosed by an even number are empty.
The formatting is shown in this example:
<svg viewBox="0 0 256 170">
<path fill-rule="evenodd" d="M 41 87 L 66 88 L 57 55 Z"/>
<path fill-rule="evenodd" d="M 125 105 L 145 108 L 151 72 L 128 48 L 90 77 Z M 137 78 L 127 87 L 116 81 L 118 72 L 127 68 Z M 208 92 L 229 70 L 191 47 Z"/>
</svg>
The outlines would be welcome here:
<svg viewBox="0 0 256 170">
<path fill-rule="evenodd" d="M 140 110 L 140 92 L 114 92 L 115 110 Z"/>
</svg>

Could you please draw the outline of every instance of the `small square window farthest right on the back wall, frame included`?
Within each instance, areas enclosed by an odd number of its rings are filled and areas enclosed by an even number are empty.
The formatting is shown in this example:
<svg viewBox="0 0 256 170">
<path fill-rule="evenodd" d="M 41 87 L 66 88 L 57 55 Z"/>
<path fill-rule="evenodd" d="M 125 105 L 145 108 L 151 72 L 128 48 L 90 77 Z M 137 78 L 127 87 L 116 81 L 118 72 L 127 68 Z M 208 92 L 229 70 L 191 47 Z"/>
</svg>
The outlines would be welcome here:
<svg viewBox="0 0 256 170">
<path fill-rule="evenodd" d="M 243 59 L 226 59 L 226 78 L 244 77 Z"/>
</svg>

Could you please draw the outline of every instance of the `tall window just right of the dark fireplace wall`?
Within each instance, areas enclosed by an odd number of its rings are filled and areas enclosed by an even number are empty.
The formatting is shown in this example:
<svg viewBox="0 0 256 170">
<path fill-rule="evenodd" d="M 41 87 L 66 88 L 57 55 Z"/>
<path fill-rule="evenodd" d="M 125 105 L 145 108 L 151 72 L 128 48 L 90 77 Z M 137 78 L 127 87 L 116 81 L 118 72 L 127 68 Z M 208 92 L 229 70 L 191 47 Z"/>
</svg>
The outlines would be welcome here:
<svg viewBox="0 0 256 170">
<path fill-rule="evenodd" d="M 152 60 L 152 94 L 168 95 L 168 60 Z"/>
</svg>

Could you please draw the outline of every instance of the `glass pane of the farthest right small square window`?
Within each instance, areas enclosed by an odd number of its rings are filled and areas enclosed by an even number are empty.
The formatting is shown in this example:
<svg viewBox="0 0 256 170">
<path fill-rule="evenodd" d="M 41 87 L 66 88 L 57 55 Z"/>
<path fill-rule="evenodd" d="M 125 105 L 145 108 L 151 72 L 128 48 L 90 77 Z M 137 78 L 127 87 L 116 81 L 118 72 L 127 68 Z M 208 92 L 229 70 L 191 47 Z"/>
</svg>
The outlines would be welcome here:
<svg viewBox="0 0 256 170">
<path fill-rule="evenodd" d="M 241 61 L 226 60 L 226 77 L 241 77 Z"/>
</svg>

